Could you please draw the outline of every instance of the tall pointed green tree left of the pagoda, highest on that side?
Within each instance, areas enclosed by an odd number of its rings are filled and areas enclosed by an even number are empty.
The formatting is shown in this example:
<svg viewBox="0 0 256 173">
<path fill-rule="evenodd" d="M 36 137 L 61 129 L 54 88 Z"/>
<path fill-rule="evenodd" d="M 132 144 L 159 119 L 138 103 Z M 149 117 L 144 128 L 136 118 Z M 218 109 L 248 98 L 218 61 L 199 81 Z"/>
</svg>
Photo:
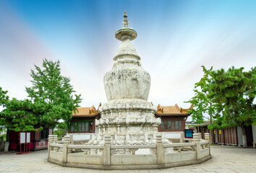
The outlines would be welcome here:
<svg viewBox="0 0 256 173">
<path fill-rule="evenodd" d="M 38 123 L 51 128 L 56 125 L 67 128 L 72 111 L 76 111 L 81 102 L 81 95 L 74 94 L 70 79 L 61 76 L 59 61 L 44 59 L 43 68 L 35 66 L 30 76 L 33 86 L 26 87 L 28 97 L 35 105 L 43 105 Z"/>
</svg>

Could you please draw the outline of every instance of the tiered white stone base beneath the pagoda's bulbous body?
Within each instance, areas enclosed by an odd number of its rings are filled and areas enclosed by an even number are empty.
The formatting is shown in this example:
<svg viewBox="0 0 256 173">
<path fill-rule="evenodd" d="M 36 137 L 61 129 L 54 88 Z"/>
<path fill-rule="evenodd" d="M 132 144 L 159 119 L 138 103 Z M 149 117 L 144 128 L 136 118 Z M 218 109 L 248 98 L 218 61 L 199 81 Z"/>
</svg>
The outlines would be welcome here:
<svg viewBox="0 0 256 173">
<path fill-rule="evenodd" d="M 143 99 L 114 99 L 103 105 L 101 119 L 96 122 L 98 134 L 88 145 L 103 145 L 103 136 L 111 137 L 111 145 L 155 144 L 161 119 L 155 108 Z M 170 143 L 163 139 L 163 143 Z"/>
</svg>

